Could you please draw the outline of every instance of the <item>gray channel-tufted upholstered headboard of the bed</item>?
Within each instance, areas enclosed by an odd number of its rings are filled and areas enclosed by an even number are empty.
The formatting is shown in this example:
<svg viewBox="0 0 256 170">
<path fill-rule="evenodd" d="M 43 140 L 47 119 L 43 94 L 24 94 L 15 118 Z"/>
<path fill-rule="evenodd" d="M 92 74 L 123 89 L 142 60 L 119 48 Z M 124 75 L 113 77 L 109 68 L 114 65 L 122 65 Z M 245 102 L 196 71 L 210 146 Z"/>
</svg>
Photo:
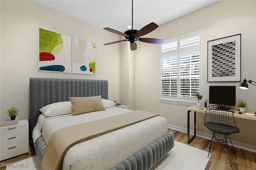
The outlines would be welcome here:
<svg viewBox="0 0 256 170">
<path fill-rule="evenodd" d="M 68 78 L 30 78 L 29 137 L 36 126 L 39 109 L 55 102 L 69 101 L 68 97 L 90 97 L 101 95 L 108 99 L 107 80 Z"/>
</svg>

